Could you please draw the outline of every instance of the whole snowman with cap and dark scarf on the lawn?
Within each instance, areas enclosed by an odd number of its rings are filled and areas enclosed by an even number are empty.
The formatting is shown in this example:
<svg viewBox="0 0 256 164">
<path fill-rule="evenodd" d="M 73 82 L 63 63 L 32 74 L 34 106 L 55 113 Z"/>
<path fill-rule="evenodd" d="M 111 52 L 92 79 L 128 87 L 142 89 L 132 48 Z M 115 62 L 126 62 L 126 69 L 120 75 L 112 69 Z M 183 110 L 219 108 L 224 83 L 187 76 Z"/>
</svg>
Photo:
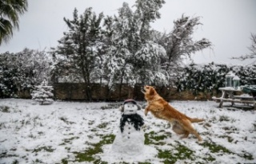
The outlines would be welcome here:
<svg viewBox="0 0 256 164">
<path fill-rule="evenodd" d="M 120 107 L 122 117 L 120 119 L 118 134 L 114 139 L 112 150 L 122 154 L 142 154 L 144 150 L 144 132 L 142 125 L 144 120 L 137 111 L 141 107 L 134 100 L 126 100 Z"/>
</svg>

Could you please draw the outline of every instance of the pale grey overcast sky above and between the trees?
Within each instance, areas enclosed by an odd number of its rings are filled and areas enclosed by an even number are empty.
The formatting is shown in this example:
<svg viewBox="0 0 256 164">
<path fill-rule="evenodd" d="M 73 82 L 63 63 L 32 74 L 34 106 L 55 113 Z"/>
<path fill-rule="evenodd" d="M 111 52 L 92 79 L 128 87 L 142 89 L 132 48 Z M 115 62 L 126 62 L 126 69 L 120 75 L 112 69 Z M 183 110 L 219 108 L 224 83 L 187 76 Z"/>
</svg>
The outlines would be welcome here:
<svg viewBox="0 0 256 164">
<path fill-rule="evenodd" d="M 135 0 L 28 0 L 28 11 L 19 21 L 19 31 L 8 44 L 0 46 L 0 53 L 17 53 L 25 47 L 29 49 L 49 49 L 58 45 L 58 40 L 67 31 L 63 18 L 72 18 L 74 8 L 82 14 L 92 7 L 97 14 L 118 14 L 123 2 L 130 7 Z M 160 10 L 161 18 L 152 24 L 153 29 L 170 32 L 173 21 L 182 14 L 201 17 L 202 25 L 194 33 L 194 39 L 206 37 L 214 44 L 214 49 L 206 49 L 193 55 L 196 63 L 248 64 L 230 60 L 250 53 L 250 33 L 256 33 L 255 0 L 166 0 Z"/>
</svg>

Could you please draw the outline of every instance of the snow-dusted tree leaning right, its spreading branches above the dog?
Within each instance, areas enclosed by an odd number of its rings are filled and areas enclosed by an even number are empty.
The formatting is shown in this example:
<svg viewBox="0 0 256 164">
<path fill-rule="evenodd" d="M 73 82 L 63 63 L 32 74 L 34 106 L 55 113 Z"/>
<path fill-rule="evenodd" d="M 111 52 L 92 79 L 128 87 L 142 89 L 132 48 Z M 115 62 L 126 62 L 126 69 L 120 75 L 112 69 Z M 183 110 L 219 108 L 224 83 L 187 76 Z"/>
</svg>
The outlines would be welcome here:
<svg viewBox="0 0 256 164">
<path fill-rule="evenodd" d="M 212 46 L 206 38 L 194 41 L 193 33 L 197 25 L 201 25 L 199 17 L 190 18 L 182 15 L 182 18 L 174 21 L 174 29 L 170 33 L 151 31 L 151 40 L 166 49 L 166 58 L 161 59 L 161 64 L 169 73 L 170 84 L 178 80 L 177 75 L 182 71 L 182 60 L 185 57 L 190 58 L 191 54 Z"/>
</svg>

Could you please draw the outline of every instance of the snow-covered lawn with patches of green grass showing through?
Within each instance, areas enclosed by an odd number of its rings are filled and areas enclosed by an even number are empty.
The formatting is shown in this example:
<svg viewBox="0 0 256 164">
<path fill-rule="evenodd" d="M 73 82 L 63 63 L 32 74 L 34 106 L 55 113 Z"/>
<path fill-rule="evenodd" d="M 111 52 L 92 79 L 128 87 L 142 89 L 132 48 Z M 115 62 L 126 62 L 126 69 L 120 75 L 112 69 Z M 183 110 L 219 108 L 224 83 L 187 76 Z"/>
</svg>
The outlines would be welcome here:
<svg viewBox="0 0 256 164">
<path fill-rule="evenodd" d="M 145 153 L 110 154 L 121 103 L 39 105 L 33 100 L 0 100 L 0 163 L 256 162 L 256 112 L 220 109 L 211 101 L 171 102 L 190 117 L 206 119 L 194 123 L 202 143 L 193 135 L 179 139 L 166 121 L 145 117 L 142 110 Z"/>
</svg>

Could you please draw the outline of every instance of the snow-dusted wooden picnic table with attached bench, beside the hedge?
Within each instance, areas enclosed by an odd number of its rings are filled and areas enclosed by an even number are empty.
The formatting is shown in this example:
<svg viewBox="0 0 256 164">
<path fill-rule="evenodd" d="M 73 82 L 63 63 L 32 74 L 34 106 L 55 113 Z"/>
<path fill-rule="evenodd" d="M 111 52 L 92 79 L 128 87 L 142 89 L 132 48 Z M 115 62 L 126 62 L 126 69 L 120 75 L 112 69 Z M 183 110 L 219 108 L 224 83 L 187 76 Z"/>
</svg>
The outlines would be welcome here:
<svg viewBox="0 0 256 164">
<path fill-rule="evenodd" d="M 254 109 L 256 109 L 256 101 L 254 100 L 253 96 L 234 96 L 234 92 L 240 92 L 242 93 L 241 89 L 234 89 L 234 88 L 218 88 L 219 90 L 222 91 L 222 96 L 221 97 L 212 97 L 213 100 L 216 102 L 219 102 L 218 107 L 222 107 L 224 102 L 230 102 L 231 106 L 234 106 L 234 103 L 246 103 L 249 105 L 249 103 L 254 104 Z"/>
</svg>

